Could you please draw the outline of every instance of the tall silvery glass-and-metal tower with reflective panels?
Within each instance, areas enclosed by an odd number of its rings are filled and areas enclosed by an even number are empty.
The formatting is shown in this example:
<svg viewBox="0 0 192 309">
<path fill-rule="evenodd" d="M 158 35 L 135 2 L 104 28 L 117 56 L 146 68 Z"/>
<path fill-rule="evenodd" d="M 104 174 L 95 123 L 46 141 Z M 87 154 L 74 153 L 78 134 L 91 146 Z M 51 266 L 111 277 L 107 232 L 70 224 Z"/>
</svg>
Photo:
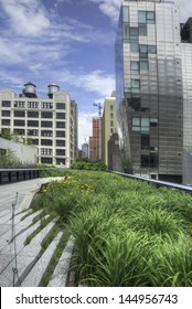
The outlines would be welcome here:
<svg viewBox="0 0 192 309">
<path fill-rule="evenodd" d="M 182 180 L 183 75 L 179 9 L 121 1 L 116 38 L 120 149 L 135 174 Z"/>
</svg>

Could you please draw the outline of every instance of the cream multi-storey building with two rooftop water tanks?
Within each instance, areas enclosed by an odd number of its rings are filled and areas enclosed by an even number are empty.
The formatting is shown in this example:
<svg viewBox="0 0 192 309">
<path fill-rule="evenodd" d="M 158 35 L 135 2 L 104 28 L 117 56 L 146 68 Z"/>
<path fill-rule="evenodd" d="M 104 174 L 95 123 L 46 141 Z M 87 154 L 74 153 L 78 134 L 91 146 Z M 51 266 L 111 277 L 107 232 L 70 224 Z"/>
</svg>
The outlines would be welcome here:
<svg viewBox="0 0 192 309">
<path fill-rule="evenodd" d="M 19 96 L 0 90 L 0 128 L 36 146 L 39 163 L 70 168 L 77 156 L 77 105 L 55 84 L 47 95 L 39 98 L 31 82 Z"/>
</svg>

